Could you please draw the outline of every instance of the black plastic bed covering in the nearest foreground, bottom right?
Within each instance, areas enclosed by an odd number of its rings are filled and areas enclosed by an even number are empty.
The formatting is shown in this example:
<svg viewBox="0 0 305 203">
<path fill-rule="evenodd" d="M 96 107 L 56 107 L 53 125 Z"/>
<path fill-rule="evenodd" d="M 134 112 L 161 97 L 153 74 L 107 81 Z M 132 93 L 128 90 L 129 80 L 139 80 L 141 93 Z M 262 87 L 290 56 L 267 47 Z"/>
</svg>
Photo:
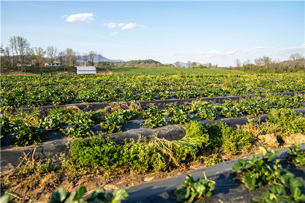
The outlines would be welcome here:
<svg viewBox="0 0 305 203">
<path fill-rule="evenodd" d="M 299 146 L 302 150 L 305 150 L 305 143 Z M 280 164 L 284 169 L 294 174 L 294 176 L 305 185 L 305 165 L 295 166 L 287 159 L 287 152 L 290 152 L 289 148 L 282 148 L 277 150 L 277 154 L 274 159 L 279 159 Z M 257 154 L 255 156 L 261 156 Z M 243 159 L 249 159 L 251 156 Z M 201 168 L 189 172 L 196 180 L 198 178 L 204 178 L 204 174 L 207 179 L 216 182 L 215 190 L 212 191 L 212 195 L 209 197 L 198 199 L 196 202 L 254 202 L 253 197 L 260 196 L 263 192 L 271 186 L 266 185 L 259 187 L 255 190 L 249 190 L 244 184 L 240 182 L 240 176 L 236 175 L 232 171 L 232 165 L 236 163 L 236 160 L 226 161 L 213 166 Z M 150 183 L 143 183 L 132 187 L 124 188 L 129 193 L 128 201 L 124 202 L 176 202 L 176 196 L 174 190 L 177 187 L 181 187 L 186 178 L 186 174 L 181 174 L 172 178 L 154 181 Z M 305 194 L 304 187 L 301 188 L 301 193 Z M 221 201 L 219 201 L 221 200 Z"/>
</svg>

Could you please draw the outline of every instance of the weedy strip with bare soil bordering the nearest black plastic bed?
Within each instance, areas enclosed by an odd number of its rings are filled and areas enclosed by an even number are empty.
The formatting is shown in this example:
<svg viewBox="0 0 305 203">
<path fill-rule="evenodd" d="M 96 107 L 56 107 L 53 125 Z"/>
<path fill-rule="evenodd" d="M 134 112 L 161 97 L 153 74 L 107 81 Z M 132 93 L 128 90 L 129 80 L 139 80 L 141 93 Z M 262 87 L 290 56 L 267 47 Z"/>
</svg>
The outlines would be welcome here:
<svg viewBox="0 0 305 203">
<path fill-rule="evenodd" d="M 271 149 L 279 149 L 289 142 L 290 145 L 295 142 L 305 143 L 304 119 L 302 114 L 290 109 L 272 109 L 264 122 L 249 120 L 237 128 L 219 122 L 204 125 L 191 121 L 185 125 L 185 137 L 174 141 L 153 137 L 141 140 L 142 142 L 118 144 L 97 137 L 90 140 L 77 139 L 68 146 L 66 154 L 59 156 L 60 159 L 55 157 L 41 160 L 33 156 L 33 153 L 23 156 L 23 162 L 12 173 L 2 174 L 2 192 L 14 192 L 22 198 L 17 200 L 20 202 L 30 199 L 47 201 L 60 186 L 69 192 L 86 186 L 88 193 L 91 193 L 96 188 L 113 190 L 177 176 L 222 161 L 256 154 L 257 143 Z M 50 151 L 44 150 L 42 153 Z M 226 170 L 216 175 L 223 172 Z M 215 177 L 214 180 L 231 180 L 229 174 L 224 175 L 225 177 Z M 197 179 L 196 176 L 194 178 Z M 182 182 L 183 180 L 179 185 Z M 167 192 L 168 188 L 160 187 L 163 191 L 157 193 L 157 198 L 173 200 L 170 197 L 172 193 Z M 234 187 L 238 188 L 236 184 Z M 229 186 L 230 189 L 232 186 Z M 160 188 L 145 187 L 143 194 L 149 190 L 155 194 Z M 132 192 L 134 191 L 130 192 L 131 201 L 137 202 L 133 198 L 141 195 Z M 154 198 L 147 196 L 145 200 L 156 201 Z"/>
</svg>

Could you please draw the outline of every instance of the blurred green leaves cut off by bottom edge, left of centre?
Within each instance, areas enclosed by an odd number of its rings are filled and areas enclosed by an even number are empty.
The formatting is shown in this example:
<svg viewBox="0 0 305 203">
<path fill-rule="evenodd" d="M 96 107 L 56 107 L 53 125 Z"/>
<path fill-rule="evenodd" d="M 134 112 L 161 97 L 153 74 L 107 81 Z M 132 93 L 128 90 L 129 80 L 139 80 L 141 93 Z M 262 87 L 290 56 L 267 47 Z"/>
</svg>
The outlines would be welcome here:
<svg viewBox="0 0 305 203">
<path fill-rule="evenodd" d="M 104 193 L 102 188 L 96 189 L 86 200 L 82 196 L 87 192 L 86 187 L 81 186 L 77 191 L 67 192 L 65 188 L 57 188 L 48 203 L 72 203 L 72 202 L 111 202 L 119 203 L 121 200 L 127 199 L 129 194 L 126 190 L 113 190 L 112 193 Z"/>
</svg>

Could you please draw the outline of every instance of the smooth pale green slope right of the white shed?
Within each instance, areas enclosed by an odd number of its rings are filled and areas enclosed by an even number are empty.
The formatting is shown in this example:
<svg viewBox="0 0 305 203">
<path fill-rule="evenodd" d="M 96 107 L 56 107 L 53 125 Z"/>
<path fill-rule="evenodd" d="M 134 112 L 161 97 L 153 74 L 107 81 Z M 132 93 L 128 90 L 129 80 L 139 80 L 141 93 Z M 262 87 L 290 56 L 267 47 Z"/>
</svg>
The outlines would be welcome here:
<svg viewBox="0 0 305 203">
<path fill-rule="evenodd" d="M 113 74 L 188 74 L 188 73 L 237 73 L 225 69 L 189 69 L 186 67 L 108 67 Z"/>
</svg>

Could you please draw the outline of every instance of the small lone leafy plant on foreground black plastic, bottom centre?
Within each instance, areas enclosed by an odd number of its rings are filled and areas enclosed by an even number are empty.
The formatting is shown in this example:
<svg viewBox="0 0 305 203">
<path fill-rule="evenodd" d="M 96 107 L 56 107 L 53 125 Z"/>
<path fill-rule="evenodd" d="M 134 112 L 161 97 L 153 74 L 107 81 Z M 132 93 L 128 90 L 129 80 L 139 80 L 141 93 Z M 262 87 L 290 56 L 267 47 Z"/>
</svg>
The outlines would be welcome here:
<svg viewBox="0 0 305 203">
<path fill-rule="evenodd" d="M 204 174 L 205 176 L 205 174 Z M 187 174 L 186 180 L 183 183 L 184 187 L 179 187 L 175 190 L 178 202 L 193 202 L 200 197 L 211 196 L 215 190 L 216 182 L 212 180 L 198 178 L 195 181 L 192 175 Z"/>
</svg>

